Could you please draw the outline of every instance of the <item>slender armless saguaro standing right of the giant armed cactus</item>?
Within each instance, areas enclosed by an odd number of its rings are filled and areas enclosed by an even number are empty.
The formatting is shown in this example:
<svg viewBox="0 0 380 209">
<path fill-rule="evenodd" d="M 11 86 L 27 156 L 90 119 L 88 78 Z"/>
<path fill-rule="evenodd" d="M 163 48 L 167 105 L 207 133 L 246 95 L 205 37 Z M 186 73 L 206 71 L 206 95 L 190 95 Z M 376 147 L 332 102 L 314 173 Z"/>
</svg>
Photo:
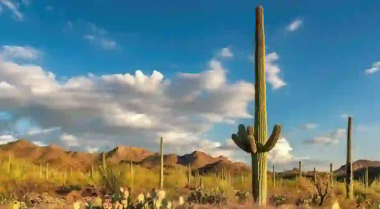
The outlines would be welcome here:
<svg viewBox="0 0 380 209">
<path fill-rule="evenodd" d="M 353 175 L 352 175 L 352 117 L 348 117 L 347 127 L 347 164 L 346 164 L 346 193 L 347 199 L 353 199 Z"/>
</svg>

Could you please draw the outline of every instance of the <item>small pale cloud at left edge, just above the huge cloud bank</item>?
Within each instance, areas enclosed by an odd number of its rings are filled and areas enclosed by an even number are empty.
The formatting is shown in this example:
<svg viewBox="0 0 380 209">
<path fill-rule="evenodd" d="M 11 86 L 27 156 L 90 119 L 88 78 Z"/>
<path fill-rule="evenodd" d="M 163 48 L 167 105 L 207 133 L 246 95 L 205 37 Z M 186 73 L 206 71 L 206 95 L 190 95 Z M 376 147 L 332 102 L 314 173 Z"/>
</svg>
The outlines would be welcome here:
<svg viewBox="0 0 380 209">
<path fill-rule="evenodd" d="M 25 59 L 35 60 L 40 57 L 41 52 L 38 49 L 29 46 L 3 46 L 0 51 L 1 59 Z"/>
</svg>

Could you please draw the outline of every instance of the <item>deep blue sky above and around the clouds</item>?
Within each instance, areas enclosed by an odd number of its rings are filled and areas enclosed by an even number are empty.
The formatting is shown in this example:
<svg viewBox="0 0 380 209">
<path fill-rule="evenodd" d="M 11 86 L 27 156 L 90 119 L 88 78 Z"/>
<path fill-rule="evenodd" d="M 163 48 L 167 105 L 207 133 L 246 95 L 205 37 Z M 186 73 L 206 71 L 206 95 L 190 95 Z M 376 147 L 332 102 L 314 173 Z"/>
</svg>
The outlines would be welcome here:
<svg viewBox="0 0 380 209">
<path fill-rule="evenodd" d="M 174 80 L 179 72 L 207 70 L 215 57 L 226 70 L 226 83 L 253 82 L 249 57 L 254 46 L 254 9 L 260 3 L 0 0 L 0 46 L 35 49 L 38 58 L 13 56 L 11 61 L 40 66 L 59 82 L 88 73 L 134 75 L 136 70 L 148 76 L 156 70 Z M 380 63 L 375 64 L 380 61 L 380 27 L 376 26 L 380 2 L 266 1 L 262 5 L 266 53 L 277 55 L 271 66 L 280 69 L 276 76 L 286 83 L 277 89 L 267 84 L 268 129 L 281 123 L 283 137 L 293 149 L 284 156 L 340 166 L 345 161 L 345 132 L 339 129 L 346 128 L 349 114 L 356 128 L 354 157 L 375 159 L 373 144 L 380 134 Z M 232 56 L 223 56 L 223 48 Z M 370 68 L 374 70 L 365 71 Z M 252 101 L 249 104 L 247 111 L 253 114 Z M 2 106 L 1 111 L 15 114 L 21 107 L 7 108 Z M 40 129 L 63 124 L 47 127 L 42 119 L 22 114 L 19 117 L 26 122 L 18 122 L 18 127 L 24 133 L 30 124 Z M 25 120 L 26 116 L 31 119 Z M 199 140 L 206 137 L 224 143 L 238 123 L 253 121 L 212 123 Z M 74 134 L 78 132 L 68 128 L 59 134 L 78 138 Z M 124 143 L 128 145 L 128 140 Z M 246 157 L 240 151 L 229 153 Z M 279 158 L 284 157 L 279 153 Z"/>
</svg>

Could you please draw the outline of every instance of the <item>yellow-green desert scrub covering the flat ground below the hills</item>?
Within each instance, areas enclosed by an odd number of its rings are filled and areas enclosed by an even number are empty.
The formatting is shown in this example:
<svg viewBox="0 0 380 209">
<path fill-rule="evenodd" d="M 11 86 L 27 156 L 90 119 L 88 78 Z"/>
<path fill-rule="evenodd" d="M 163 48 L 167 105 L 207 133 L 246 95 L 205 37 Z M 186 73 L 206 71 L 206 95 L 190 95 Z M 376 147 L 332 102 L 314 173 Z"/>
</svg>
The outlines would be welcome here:
<svg viewBox="0 0 380 209">
<path fill-rule="evenodd" d="M 1 161 L 0 173 L 0 201 L 4 208 L 10 208 L 9 205 L 14 200 L 29 205 L 29 208 L 36 205 L 45 208 L 73 208 L 76 201 L 84 204 L 86 201 L 95 201 L 96 196 L 106 200 L 109 195 L 119 193 L 120 187 L 131 188 L 130 202 L 136 204 L 140 193 L 152 193 L 152 189 L 159 185 L 158 168 L 146 169 L 128 164 L 108 163 L 105 170 L 94 165 L 89 171 L 79 171 L 60 170 L 54 165 L 35 165 L 23 159 L 9 161 L 5 158 Z M 340 208 L 349 209 L 357 208 L 358 203 L 367 206 L 380 199 L 380 185 L 376 182 L 367 189 L 355 182 L 354 193 L 357 199 L 350 201 L 345 199 L 345 184 L 334 182 L 332 186 L 328 179 L 323 176 L 318 177 L 316 182 L 306 178 L 276 179 L 274 187 L 272 179 L 268 179 L 268 206 L 291 208 L 298 204 L 317 207 L 325 196 L 322 207 L 331 208 L 332 204 L 338 202 Z M 250 193 L 247 193 L 250 192 L 250 185 L 249 174 L 231 175 L 221 172 L 206 176 L 190 175 L 189 178 L 188 169 L 179 166 L 165 168 L 163 190 L 165 198 L 174 205 L 179 203 L 182 196 L 185 205 L 198 205 L 197 208 L 201 208 L 202 204 L 202 207 L 207 208 L 252 208 Z M 218 206 L 217 202 L 221 205 Z"/>
</svg>

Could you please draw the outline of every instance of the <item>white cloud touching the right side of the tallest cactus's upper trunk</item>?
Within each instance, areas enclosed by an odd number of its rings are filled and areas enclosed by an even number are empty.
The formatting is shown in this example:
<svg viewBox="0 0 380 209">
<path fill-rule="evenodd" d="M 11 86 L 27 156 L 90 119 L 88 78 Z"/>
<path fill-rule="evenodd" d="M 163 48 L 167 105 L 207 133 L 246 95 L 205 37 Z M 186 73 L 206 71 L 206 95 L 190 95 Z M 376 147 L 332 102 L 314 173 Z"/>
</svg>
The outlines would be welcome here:
<svg viewBox="0 0 380 209">
<path fill-rule="evenodd" d="M 283 81 L 282 78 L 280 78 L 280 68 L 277 65 L 277 60 L 279 59 L 279 55 L 277 55 L 276 52 L 269 53 L 265 55 L 265 76 L 266 81 L 269 82 L 269 84 L 272 85 L 272 89 L 279 89 L 283 86 L 286 86 L 285 81 Z M 252 62 L 254 62 L 254 59 L 250 59 Z"/>
</svg>

